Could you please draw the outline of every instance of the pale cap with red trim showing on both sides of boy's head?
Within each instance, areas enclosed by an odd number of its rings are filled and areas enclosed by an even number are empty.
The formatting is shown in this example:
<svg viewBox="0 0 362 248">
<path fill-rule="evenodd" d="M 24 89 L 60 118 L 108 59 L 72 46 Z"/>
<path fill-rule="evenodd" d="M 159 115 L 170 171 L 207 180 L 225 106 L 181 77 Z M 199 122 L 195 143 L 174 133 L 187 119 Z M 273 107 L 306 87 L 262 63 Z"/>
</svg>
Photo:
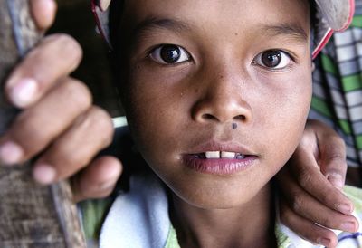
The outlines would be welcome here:
<svg viewBox="0 0 362 248">
<path fill-rule="evenodd" d="M 99 33 L 110 45 L 108 25 L 109 6 L 111 0 L 91 0 L 93 14 Z M 119 1 L 119 0 L 113 0 Z M 313 24 L 312 58 L 328 43 L 334 32 L 348 28 L 355 11 L 355 0 L 314 0 L 316 3 L 315 23 Z"/>
</svg>

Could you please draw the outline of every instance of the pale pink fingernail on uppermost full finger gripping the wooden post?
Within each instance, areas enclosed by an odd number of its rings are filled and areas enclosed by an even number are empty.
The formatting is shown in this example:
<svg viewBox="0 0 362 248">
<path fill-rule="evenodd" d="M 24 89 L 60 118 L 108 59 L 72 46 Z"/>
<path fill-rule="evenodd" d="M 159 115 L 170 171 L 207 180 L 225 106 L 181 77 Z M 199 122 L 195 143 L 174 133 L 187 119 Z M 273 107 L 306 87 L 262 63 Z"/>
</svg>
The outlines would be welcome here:
<svg viewBox="0 0 362 248">
<path fill-rule="evenodd" d="M 19 108 L 28 106 L 33 102 L 38 84 L 33 79 L 23 79 L 19 81 L 10 91 L 10 98 L 14 105 Z"/>
</svg>

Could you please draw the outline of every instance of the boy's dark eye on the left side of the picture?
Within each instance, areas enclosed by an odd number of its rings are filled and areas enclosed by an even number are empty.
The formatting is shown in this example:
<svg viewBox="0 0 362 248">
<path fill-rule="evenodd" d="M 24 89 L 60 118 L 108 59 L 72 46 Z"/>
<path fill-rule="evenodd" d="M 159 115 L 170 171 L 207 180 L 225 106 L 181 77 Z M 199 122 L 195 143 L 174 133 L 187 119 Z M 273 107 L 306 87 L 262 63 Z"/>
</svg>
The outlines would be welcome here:
<svg viewBox="0 0 362 248">
<path fill-rule="evenodd" d="M 150 53 L 150 57 L 160 63 L 179 63 L 190 60 L 190 55 L 182 47 L 175 44 L 158 46 Z"/>
</svg>

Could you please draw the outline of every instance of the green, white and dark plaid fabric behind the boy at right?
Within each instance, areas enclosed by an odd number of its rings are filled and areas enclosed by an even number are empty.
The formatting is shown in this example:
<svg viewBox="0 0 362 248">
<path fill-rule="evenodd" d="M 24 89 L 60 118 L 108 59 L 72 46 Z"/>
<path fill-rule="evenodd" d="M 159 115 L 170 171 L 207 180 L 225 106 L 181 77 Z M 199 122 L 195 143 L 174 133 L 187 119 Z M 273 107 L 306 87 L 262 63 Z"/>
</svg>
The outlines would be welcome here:
<svg viewBox="0 0 362 248">
<path fill-rule="evenodd" d="M 338 130 L 347 145 L 348 167 L 362 165 L 362 0 L 352 24 L 334 33 L 315 61 L 310 119 Z"/>
</svg>

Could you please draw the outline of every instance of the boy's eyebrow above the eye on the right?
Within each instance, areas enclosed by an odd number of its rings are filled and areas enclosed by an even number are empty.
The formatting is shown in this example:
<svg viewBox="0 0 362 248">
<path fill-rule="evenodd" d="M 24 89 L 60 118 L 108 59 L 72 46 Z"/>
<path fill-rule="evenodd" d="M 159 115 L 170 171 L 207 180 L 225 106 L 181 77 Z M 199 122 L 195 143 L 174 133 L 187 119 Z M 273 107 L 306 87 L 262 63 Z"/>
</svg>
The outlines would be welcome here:
<svg viewBox="0 0 362 248">
<path fill-rule="evenodd" d="M 262 31 L 272 36 L 290 36 L 300 43 L 306 43 L 308 41 L 308 34 L 300 24 L 262 24 Z"/>
</svg>

